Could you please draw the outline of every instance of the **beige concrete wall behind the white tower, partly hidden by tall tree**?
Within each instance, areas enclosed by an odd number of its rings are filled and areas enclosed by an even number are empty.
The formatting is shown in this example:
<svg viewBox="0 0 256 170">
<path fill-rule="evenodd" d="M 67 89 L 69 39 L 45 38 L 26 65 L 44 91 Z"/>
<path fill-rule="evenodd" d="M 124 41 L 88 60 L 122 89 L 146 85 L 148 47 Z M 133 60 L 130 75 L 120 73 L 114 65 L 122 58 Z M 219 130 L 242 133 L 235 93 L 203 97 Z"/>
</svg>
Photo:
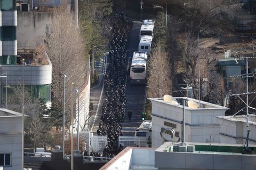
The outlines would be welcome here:
<svg viewBox="0 0 256 170">
<path fill-rule="evenodd" d="M 46 25 L 50 25 L 53 14 L 46 12 L 17 12 L 17 46 L 35 48 L 35 42 L 43 42 Z"/>
</svg>

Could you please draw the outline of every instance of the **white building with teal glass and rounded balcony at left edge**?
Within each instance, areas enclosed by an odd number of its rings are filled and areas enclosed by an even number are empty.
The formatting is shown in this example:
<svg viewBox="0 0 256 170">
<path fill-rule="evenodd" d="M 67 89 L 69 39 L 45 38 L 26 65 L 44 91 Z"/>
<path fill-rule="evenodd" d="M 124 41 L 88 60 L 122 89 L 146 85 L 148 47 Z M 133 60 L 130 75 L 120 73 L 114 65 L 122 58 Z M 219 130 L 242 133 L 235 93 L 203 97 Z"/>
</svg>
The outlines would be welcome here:
<svg viewBox="0 0 256 170">
<path fill-rule="evenodd" d="M 19 85 L 24 83 L 26 89 L 36 99 L 42 99 L 46 103 L 51 102 L 51 71 L 52 65 L 45 54 L 47 64 L 34 64 L 35 47 L 31 51 L 18 54 L 17 46 L 17 4 L 15 0 L 3 0 L 1 4 L 1 42 L 0 42 L 0 106 L 7 108 L 8 95 L 14 93 Z M 22 30 L 26 32 L 26 30 Z M 24 67 L 21 60 L 24 59 Z"/>
</svg>

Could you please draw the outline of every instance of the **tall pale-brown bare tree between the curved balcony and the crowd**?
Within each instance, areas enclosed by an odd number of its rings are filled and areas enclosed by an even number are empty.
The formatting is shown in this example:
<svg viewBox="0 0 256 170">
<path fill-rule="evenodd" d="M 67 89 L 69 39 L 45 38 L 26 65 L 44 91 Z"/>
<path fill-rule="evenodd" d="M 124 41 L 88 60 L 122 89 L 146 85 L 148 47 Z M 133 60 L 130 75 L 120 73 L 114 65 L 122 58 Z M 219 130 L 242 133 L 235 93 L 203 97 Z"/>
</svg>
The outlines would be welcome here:
<svg viewBox="0 0 256 170">
<path fill-rule="evenodd" d="M 58 108 L 62 107 L 63 74 L 67 76 L 65 82 L 67 99 L 70 99 L 71 94 L 74 93 L 74 88 L 82 91 L 86 85 L 87 58 L 84 40 L 80 29 L 76 28 L 70 18 L 66 4 L 55 8 L 50 26 L 51 33 L 45 41 L 46 52 L 52 62 L 52 100 Z M 66 104 L 70 105 L 70 100 L 66 100 Z"/>
</svg>

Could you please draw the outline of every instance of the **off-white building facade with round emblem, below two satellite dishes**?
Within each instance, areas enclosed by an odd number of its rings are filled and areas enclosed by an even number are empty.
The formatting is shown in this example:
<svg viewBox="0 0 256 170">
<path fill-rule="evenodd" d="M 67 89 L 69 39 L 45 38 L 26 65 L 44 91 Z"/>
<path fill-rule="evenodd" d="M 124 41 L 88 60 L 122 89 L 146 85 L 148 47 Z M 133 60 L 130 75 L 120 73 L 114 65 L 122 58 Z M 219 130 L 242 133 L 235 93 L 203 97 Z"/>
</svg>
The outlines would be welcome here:
<svg viewBox="0 0 256 170">
<path fill-rule="evenodd" d="M 166 129 L 174 129 L 175 142 L 181 142 L 183 113 L 185 111 L 185 142 L 219 143 L 220 124 L 217 116 L 225 116 L 226 107 L 200 101 L 200 108 L 187 106 L 187 98 L 175 98 L 178 102 L 166 102 L 163 98 L 150 98 L 152 103 L 152 147 L 171 141 L 171 135 L 163 133 Z M 186 106 L 183 106 L 183 101 Z M 188 101 L 198 100 L 188 98 Z M 181 103 L 181 104 L 180 104 Z"/>
</svg>

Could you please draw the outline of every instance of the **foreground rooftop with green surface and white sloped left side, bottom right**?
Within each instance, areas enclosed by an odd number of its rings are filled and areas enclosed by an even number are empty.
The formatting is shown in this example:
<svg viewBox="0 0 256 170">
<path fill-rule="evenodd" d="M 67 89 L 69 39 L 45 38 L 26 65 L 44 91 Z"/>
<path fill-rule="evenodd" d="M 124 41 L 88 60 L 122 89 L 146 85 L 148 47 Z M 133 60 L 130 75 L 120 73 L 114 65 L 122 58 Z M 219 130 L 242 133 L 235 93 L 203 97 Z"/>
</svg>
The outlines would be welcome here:
<svg viewBox="0 0 256 170">
<path fill-rule="evenodd" d="M 256 145 L 250 148 L 255 150 Z M 243 145 L 220 143 L 186 143 L 184 147 L 165 142 L 157 149 L 126 147 L 100 169 L 255 169 L 254 152 L 248 155 L 243 150 Z"/>
</svg>

